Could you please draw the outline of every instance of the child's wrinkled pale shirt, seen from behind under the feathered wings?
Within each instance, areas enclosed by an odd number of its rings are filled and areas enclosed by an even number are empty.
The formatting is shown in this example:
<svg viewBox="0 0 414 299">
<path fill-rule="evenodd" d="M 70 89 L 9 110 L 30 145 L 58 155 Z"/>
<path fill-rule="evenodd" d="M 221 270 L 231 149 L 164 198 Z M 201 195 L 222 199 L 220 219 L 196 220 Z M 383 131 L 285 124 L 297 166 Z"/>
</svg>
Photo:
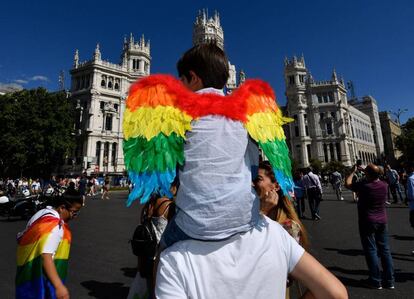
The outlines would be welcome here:
<svg viewBox="0 0 414 299">
<path fill-rule="evenodd" d="M 223 92 L 205 88 L 198 93 Z M 188 236 L 220 240 L 248 231 L 259 218 L 251 168 L 259 151 L 239 121 L 207 115 L 192 122 L 184 145 L 185 164 L 175 221 Z"/>
</svg>

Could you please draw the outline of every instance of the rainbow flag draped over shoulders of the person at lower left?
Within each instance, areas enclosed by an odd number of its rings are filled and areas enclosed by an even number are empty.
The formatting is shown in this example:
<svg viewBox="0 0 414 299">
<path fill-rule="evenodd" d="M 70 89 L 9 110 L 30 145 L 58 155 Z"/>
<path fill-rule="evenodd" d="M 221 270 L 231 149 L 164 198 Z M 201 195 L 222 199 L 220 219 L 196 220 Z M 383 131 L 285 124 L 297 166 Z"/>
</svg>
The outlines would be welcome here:
<svg viewBox="0 0 414 299">
<path fill-rule="evenodd" d="M 43 273 L 42 250 L 52 232 L 63 225 L 63 239 L 54 256 L 57 272 L 62 281 L 66 279 L 71 232 L 66 223 L 53 216 L 37 219 L 17 240 L 17 299 L 56 298 L 55 289 Z"/>
</svg>

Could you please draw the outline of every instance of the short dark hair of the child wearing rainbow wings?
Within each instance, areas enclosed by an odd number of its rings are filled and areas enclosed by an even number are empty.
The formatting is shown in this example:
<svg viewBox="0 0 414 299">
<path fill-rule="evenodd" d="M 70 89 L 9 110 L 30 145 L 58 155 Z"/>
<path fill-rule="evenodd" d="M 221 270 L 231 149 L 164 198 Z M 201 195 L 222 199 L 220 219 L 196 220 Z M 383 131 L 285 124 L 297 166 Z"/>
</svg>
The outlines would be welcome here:
<svg viewBox="0 0 414 299">
<path fill-rule="evenodd" d="M 215 43 L 200 44 L 185 52 L 177 62 L 178 76 L 191 80 L 193 71 L 203 81 L 203 87 L 222 89 L 229 78 L 226 54 Z"/>
</svg>

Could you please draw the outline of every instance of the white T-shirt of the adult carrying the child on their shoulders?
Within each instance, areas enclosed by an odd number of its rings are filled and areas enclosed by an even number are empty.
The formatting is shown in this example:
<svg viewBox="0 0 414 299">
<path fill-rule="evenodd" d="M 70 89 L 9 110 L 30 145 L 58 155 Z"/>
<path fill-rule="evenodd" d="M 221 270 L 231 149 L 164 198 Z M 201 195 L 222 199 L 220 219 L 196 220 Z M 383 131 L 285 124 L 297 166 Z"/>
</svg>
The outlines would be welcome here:
<svg viewBox="0 0 414 299">
<path fill-rule="evenodd" d="M 285 298 L 304 249 L 277 222 L 223 241 L 186 240 L 161 253 L 156 298 Z"/>
</svg>

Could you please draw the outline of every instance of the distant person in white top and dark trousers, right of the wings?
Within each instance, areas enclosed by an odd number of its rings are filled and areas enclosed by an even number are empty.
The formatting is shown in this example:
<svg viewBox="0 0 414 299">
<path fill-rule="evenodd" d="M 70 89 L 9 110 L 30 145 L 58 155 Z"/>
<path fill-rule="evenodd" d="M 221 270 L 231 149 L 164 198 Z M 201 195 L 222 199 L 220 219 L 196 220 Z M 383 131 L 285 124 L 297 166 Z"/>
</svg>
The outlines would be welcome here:
<svg viewBox="0 0 414 299">
<path fill-rule="evenodd" d="M 309 201 L 309 208 L 312 213 L 313 220 L 320 220 L 319 205 L 322 200 L 322 186 L 319 177 L 308 167 L 306 174 L 303 176 L 303 185 Z"/>
</svg>

